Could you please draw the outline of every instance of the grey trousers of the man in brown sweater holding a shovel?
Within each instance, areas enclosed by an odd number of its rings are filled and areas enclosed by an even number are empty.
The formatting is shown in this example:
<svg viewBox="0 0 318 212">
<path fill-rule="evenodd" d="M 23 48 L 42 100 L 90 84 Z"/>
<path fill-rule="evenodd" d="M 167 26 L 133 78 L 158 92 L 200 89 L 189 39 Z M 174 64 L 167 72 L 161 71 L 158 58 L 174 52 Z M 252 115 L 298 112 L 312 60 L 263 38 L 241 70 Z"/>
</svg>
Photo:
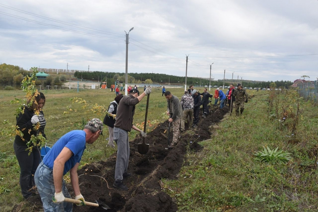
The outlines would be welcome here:
<svg viewBox="0 0 318 212">
<path fill-rule="evenodd" d="M 128 132 L 114 127 L 114 141 L 117 143 L 115 181 L 122 181 L 122 174 L 126 173 L 128 169 L 130 155 Z"/>
</svg>

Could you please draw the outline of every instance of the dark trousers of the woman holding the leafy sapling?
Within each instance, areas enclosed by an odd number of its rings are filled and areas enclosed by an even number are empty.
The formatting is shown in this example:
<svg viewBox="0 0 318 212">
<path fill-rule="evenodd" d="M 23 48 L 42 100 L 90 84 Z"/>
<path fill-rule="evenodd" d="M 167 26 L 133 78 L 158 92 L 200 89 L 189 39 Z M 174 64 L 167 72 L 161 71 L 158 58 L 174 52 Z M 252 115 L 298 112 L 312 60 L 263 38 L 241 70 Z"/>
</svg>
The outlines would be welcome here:
<svg viewBox="0 0 318 212">
<path fill-rule="evenodd" d="M 14 153 L 17 156 L 17 160 L 20 166 L 20 187 L 22 195 L 25 199 L 30 197 L 32 193 L 28 190 L 35 186 L 34 173 L 41 162 L 41 154 L 37 148 L 33 148 L 29 155 L 29 150 L 25 150 L 27 147 L 17 145 L 13 143 Z"/>
</svg>

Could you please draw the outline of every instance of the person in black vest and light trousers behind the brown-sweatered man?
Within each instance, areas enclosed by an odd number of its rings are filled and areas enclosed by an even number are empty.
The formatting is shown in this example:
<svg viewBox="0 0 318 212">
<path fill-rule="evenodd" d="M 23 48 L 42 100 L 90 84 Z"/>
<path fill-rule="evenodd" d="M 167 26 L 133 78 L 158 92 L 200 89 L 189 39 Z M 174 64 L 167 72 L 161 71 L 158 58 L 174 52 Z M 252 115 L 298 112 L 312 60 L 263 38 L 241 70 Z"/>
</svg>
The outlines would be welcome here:
<svg viewBox="0 0 318 212">
<path fill-rule="evenodd" d="M 112 101 L 108 107 L 108 113 L 110 115 L 106 114 L 103 123 L 108 126 L 108 146 L 115 148 L 114 145 L 114 124 L 115 124 L 115 117 L 117 113 L 117 107 L 119 104 L 119 101 L 124 97 L 123 94 L 119 94 L 115 97 L 114 101 Z"/>
</svg>

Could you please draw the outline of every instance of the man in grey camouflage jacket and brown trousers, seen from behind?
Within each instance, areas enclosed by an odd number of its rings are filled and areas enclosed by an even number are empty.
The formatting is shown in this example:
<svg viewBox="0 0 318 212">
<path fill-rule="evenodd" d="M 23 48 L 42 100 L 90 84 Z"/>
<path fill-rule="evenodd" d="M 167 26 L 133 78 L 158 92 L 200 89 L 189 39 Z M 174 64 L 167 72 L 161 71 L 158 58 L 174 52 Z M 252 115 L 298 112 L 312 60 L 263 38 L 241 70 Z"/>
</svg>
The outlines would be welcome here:
<svg viewBox="0 0 318 212">
<path fill-rule="evenodd" d="M 185 91 L 184 95 L 181 97 L 181 106 L 183 108 L 183 115 L 181 118 L 181 132 L 184 131 L 184 121 L 189 117 L 189 127 L 192 126 L 192 116 L 193 116 L 193 107 L 194 99 L 189 93 Z"/>
</svg>

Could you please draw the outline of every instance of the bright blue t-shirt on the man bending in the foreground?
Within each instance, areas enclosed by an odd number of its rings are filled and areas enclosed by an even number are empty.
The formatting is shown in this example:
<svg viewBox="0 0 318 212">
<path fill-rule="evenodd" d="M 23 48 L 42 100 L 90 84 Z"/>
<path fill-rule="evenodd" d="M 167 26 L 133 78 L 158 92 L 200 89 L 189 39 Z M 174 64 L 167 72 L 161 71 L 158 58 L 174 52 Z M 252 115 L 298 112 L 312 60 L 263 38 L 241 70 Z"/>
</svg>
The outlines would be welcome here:
<svg viewBox="0 0 318 212">
<path fill-rule="evenodd" d="M 64 147 L 69 148 L 73 155 L 65 162 L 63 175 L 75 166 L 82 158 L 86 148 L 86 133 L 83 130 L 73 130 L 63 135 L 43 158 L 43 163 L 53 170 L 53 163 Z"/>
</svg>

